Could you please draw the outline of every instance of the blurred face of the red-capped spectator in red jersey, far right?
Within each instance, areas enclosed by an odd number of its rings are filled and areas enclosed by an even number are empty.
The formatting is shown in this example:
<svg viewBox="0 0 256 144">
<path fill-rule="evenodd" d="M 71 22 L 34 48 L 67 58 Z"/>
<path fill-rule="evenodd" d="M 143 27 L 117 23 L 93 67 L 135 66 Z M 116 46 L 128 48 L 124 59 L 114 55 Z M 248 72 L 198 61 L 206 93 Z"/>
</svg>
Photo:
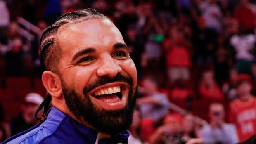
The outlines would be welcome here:
<svg viewBox="0 0 256 144">
<path fill-rule="evenodd" d="M 251 83 L 247 80 L 242 81 L 237 87 L 239 98 L 247 100 L 251 93 Z"/>
</svg>

